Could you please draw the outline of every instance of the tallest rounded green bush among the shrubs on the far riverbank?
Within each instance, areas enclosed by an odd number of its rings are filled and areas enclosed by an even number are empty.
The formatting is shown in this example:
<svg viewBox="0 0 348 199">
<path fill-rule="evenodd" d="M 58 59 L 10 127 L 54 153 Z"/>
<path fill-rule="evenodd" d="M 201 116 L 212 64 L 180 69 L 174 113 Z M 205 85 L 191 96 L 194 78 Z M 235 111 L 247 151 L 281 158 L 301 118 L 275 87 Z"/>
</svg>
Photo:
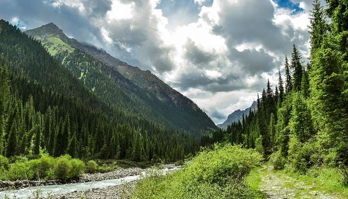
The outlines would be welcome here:
<svg viewBox="0 0 348 199">
<path fill-rule="evenodd" d="M 56 179 L 64 180 L 70 177 L 72 165 L 69 156 L 61 156 L 56 159 L 54 176 Z"/>
</svg>

